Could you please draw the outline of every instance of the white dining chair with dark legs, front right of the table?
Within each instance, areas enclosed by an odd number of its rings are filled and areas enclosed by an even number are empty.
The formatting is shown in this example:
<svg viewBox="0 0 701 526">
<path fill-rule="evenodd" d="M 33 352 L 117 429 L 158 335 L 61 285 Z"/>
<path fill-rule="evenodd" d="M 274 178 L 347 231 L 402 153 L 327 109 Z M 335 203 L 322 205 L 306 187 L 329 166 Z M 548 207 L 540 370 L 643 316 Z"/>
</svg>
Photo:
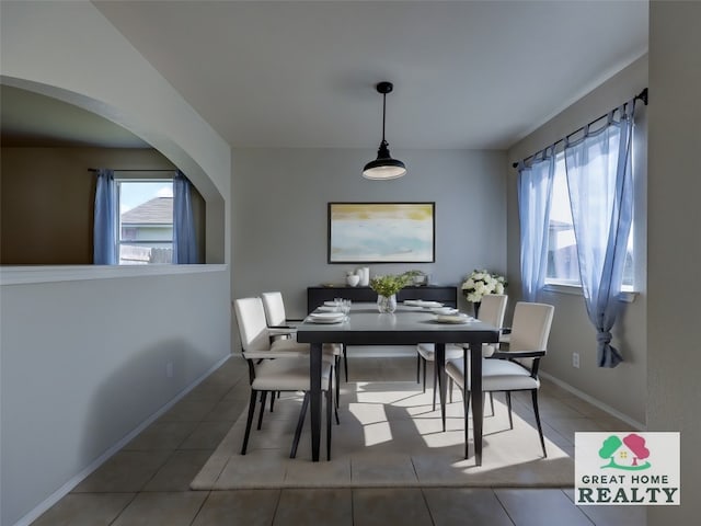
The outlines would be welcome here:
<svg viewBox="0 0 701 526">
<path fill-rule="evenodd" d="M 512 392 L 530 391 L 543 457 L 547 457 L 548 453 L 545 451 L 545 441 L 538 410 L 538 390 L 540 388 L 538 367 L 548 350 L 553 313 L 554 307 L 552 305 L 519 301 L 514 310 L 509 350 L 496 350 L 490 357 L 482 357 L 482 391 L 506 393 L 509 428 L 514 428 Z M 450 359 L 446 363 L 446 374 L 461 389 L 464 386 L 464 425 L 467 428 L 470 409 L 469 364 L 466 370 L 463 358 Z"/>
</svg>

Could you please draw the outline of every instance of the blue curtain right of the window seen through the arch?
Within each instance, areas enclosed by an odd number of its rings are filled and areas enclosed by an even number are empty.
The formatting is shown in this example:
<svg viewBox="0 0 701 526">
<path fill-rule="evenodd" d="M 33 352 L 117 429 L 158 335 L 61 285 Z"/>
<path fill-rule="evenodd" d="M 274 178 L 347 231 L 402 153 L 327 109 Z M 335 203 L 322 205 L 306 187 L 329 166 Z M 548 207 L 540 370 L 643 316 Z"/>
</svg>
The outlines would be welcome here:
<svg viewBox="0 0 701 526">
<path fill-rule="evenodd" d="M 173 178 L 173 263 L 175 264 L 198 263 L 191 186 L 188 179 L 179 170 Z"/>
</svg>

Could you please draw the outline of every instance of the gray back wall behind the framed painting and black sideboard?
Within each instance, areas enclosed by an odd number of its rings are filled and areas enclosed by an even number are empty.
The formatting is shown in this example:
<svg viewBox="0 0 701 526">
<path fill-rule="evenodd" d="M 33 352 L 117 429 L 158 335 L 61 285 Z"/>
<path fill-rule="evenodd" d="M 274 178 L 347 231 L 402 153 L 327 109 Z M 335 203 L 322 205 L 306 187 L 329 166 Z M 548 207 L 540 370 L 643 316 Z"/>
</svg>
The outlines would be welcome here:
<svg viewBox="0 0 701 526">
<path fill-rule="evenodd" d="M 281 290 L 290 317 L 307 287 L 342 283 L 359 265 L 326 263 L 329 202 L 435 202 L 436 262 L 375 264 L 370 275 L 420 268 L 456 285 L 475 267 L 506 271 L 504 152 L 392 150 L 409 173 L 368 181 L 374 150 L 235 149 L 232 158 L 232 297 Z"/>
</svg>

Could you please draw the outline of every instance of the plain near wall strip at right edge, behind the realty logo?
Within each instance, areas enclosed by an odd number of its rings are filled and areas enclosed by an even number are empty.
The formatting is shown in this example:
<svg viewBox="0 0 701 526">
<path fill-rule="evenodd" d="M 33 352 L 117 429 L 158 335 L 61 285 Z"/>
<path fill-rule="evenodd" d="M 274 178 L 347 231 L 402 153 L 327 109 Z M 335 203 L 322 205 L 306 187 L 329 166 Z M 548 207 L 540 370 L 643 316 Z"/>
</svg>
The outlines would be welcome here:
<svg viewBox="0 0 701 526">
<path fill-rule="evenodd" d="M 701 515 L 701 3 L 652 2 L 647 424 L 681 432 L 681 506 L 651 506 L 650 526 Z"/>
</svg>

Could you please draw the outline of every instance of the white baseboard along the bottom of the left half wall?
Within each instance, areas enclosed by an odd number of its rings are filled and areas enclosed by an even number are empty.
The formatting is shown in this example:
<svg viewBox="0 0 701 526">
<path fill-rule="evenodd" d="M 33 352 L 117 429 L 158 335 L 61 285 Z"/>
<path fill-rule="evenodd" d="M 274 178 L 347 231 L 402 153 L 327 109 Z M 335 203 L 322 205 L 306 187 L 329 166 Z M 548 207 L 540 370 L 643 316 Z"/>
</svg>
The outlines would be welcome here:
<svg viewBox="0 0 701 526">
<path fill-rule="evenodd" d="M 211 375 L 215 370 L 217 370 L 221 365 L 231 357 L 231 355 L 227 355 L 222 357 L 219 362 L 212 365 L 206 373 L 200 375 L 197 379 L 195 379 L 191 385 L 185 387 L 182 391 L 180 391 L 171 401 L 165 403 L 162 408 L 160 408 L 156 413 L 149 416 L 147 420 L 141 422 L 137 427 L 131 430 L 127 435 L 125 435 L 119 442 L 117 442 L 114 446 L 110 447 L 105 453 L 100 455 L 95 460 L 90 462 L 84 469 L 80 472 L 71 477 L 64 485 L 61 485 L 58 490 L 51 493 L 48 498 L 46 498 L 42 503 L 36 505 L 30 513 L 24 515 L 20 521 L 14 523 L 13 526 L 28 526 L 34 521 L 36 521 L 44 512 L 46 512 L 49 507 L 60 501 L 64 496 L 66 496 L 70 491 L 76 488 L 80 482 L 82 482 L 90 473 L 96 470 L 100 466 L 106 462 L 113 455 L 115 455 L 119 449 L 126 446 L 129 442 L 131 442 L 136 436 L 146 430 L 149 425 L 156 422 L 161 415 L 163 415 L 169 409 L 175 405 L 185 395 L 192 391 L 195 387 L 197 387 L 205 378 Z"/>
</svg>

